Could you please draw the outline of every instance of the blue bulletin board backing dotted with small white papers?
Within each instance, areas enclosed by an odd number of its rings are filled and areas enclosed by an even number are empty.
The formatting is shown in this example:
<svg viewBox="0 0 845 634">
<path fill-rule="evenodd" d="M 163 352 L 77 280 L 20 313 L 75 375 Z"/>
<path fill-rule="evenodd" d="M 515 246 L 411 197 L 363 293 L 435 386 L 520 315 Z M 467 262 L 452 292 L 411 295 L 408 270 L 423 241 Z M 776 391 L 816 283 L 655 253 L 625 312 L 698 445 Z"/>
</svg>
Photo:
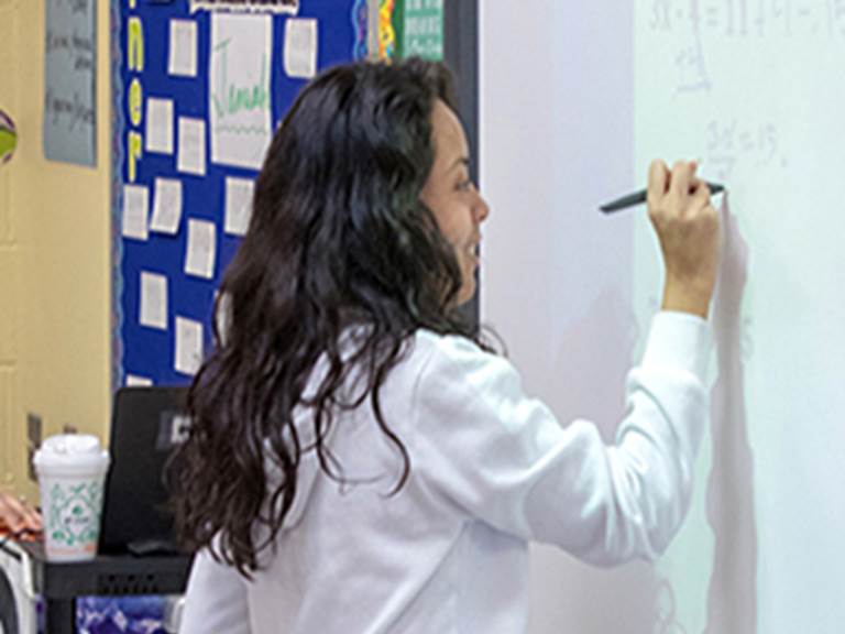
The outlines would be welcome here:
<svg viewBox="0 0 845 634">
<path fill-rule="evenodd" d="M 227 3 L 240 11 L 223 10 Z M 202 6 L 215 10 L 197 8 Z M 267 12 L 268 6 L 293 6 L 295 12 Z M 213 29 L 217 51 L 220 33 L 234 32 L 241 19 L 252 20 L 253 26 L 256 19 L 264 26 L 272 24 L 263 31 L 271 42 L 268 77 L 263 78 L 267 90 L 253 85 L 250 91 L 227 94 L 223 105 L 234 109 L 233 101 L 240 107 L 265 103 L 272 134 L 315 70 L 365 56 L 366 18 L 366 0 L 112 0 L 113 387 L 191 380 L 198 362 L 191 356 L 199 346 L 195 338 L 205 352 L 210 350 L 215 294 L 241 240 L 243 221 L 241 229 L 228 230 L 227 187 L 254 181 L 257 165 L 212 156 L 211 119 L 221 108 L 209 100 Z M 310 39 L 310 65 L 307 51 L 299 50 L 297 56 L 286 48 L 288 34 L 292 43 L 295 37 L 306 44 Z M 248 41 L 242 45 L 251 46 Z M 228 63 L 233 75 L 241 61 L 232 55 Z M 217 77 L 220 81 L 219 68 Z M 191 130 L 204 128 L 201 139 L 189 138 L 185 121 Z M 187 152 L 189 143 L 196 154 Z M 205 163 L 204 174 L 198 163 Z M 171 197 L 163 183 L 169 183 Z M 177 218 L 174 187 L 182 197 Z M 191 259 L 188 234 L 194 228 L 202 231 L 196 234 Z"/>
</svg>

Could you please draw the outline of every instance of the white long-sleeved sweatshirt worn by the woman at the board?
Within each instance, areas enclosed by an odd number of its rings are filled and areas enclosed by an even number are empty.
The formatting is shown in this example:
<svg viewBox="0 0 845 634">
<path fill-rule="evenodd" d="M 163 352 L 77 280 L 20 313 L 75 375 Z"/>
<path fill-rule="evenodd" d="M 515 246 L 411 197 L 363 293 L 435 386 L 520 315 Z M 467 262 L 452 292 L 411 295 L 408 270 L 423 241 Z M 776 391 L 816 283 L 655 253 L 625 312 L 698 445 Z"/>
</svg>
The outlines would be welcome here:
<svg viewBox="0 0 845 634">
<path fill-rule="evenodd" d="M 419 331 L 382 391 L 410 477 L 369 402 L 330 447 L 351 482 L 305 455 L 292 513 L 249 582 L 198 554 L 182 634 L 517 634 L 528 542 L 600 566 L 652 559 L 689 505 L 707 417 L 707 324 L 656 316 L 616 444 L 563 427 L 505 359 Z"/>
</svg>

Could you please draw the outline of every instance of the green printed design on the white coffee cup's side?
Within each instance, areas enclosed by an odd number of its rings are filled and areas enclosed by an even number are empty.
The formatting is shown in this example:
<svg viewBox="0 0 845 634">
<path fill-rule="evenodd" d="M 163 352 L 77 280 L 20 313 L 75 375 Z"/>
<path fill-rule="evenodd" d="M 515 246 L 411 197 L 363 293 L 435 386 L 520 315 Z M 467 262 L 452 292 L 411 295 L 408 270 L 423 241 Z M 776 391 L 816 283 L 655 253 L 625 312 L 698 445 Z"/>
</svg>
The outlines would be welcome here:
<svg viewBox="0 0 845 634">
<path fill-rule="evenodd" d="M 50 491 L 50 498 L 47 531 L 57 545 L 73 548 L 97 540 L 100 529 L 101 483 L 55 483 Z"/>
</svg>

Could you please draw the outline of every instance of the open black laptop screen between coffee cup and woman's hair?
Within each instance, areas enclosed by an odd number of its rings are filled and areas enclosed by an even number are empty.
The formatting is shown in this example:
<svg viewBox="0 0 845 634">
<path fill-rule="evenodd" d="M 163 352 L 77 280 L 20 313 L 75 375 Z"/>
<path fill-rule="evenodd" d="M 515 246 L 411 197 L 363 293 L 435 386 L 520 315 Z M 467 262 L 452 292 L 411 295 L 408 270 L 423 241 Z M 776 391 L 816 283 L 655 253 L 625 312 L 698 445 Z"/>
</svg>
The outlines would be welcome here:
<svg viewBox="0 0 845 634">
<path fill-rule="evenodd" d="M 186 387 L 122 387 L 111 417 L 111 467 L 100 528 L 100 554 L 179 553 L 164 468 L 184 438 Z"/>
</svg>

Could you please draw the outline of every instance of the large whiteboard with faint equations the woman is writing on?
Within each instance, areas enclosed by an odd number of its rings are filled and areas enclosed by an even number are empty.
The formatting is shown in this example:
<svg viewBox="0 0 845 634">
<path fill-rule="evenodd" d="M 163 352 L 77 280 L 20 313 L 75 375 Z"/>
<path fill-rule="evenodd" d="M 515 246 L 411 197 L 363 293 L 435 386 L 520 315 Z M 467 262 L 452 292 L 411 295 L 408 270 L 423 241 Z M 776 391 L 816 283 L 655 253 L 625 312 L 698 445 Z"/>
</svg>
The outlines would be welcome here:
<svg viewBox="0 0 845 634">
<path fill-rule="evenodd" d="M 533 549 L 531 633 L 843 631 L 845 2 L 481 7 L 481 311 L 527 389 L 611 439 L 661 291 L 654 157 L 727 185 L 711 427 L 656 564 Z"/>
</svg>

